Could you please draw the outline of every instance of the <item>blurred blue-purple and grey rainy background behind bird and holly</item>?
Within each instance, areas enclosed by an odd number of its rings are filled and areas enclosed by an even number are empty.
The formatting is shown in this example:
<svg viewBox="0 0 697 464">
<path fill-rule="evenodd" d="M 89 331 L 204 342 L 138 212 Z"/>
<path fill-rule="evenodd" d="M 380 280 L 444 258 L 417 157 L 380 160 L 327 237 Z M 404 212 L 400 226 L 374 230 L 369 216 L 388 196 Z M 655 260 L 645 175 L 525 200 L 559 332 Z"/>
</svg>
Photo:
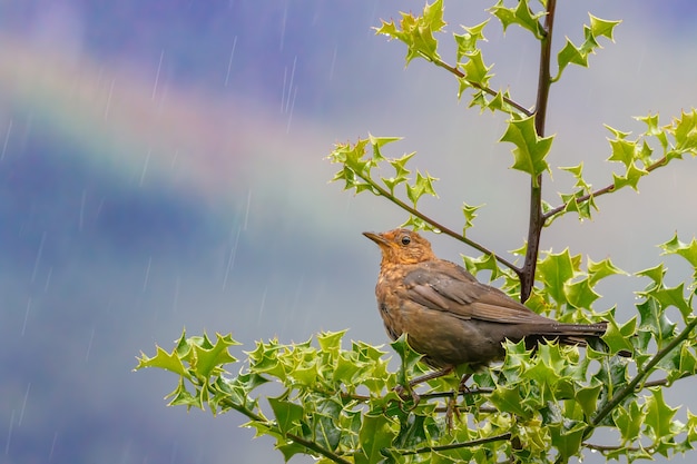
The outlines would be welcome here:
<svg viewBox="0 0 697 464">
<path fill-rule="evenodd" d="M 488 17 L 484 1 L 445 4 L 450 31 Z M 344 328 L 347 339 L 386 342 L 379 250 L 360 233 L 406 216 L 327 184 L 335 142 L 404 136 L 387 155 L 416 150 L 413 167 L 441 179 L 424 211 L 458 230 L 462 201 L 485 204 L 470 237 L 500 254 L 520 247 L 527 179 L 495 144 L 504 119 L 459 103 L 454 79 L 423 60 L 404 70 L 405 49 L 371 29 L 422 7 L 0 1 L 0 462 L 282 462 L 271 440 L 237 427 L 243 417 L 168 408 L 176 378 L 131 369 L 184 327 L 232 332 L 240 349 Z M 588 11 L 624 22 L 590 70 L 570 67 L 552 88 L 549 160 L 583 161 L 601 187 L 611 181 L 603 124 L 636 132 L 632 116 L 668 124 L 697 106 L 697 3 L 559 2 L 558 46 L 582 41 Z M 484 33 L 493 87 L 532 106 L 536 42 L 514 27 L 503 41 L 494 21 Z M 452 39 L 441 40 L 453 62 Z M 552 174 L 556 205 L 572 179 Z M 697 230 L 696 178 L 697 160 L 676 161 L 640 195 L 598 199 L 592 221 L 554 223 L 542 248 L 652 267 L 657 244 Z M 429 238 L 443 258 L 475 255 Z M 679 259 L 667 265 L 669 282 L 689 277 Z M 646 284 L 607 279 L 596 309 L 632 317 Z M 690 385 L 673 388 L 673 404 L 697 408 Z"/>
</svg>

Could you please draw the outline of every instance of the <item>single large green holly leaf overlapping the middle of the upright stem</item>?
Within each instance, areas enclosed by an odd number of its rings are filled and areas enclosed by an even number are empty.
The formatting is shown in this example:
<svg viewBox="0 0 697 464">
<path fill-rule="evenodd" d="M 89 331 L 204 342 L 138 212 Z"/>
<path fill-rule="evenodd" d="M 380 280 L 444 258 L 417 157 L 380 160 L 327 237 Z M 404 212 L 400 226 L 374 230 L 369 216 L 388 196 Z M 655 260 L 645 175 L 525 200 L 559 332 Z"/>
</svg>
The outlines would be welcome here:
<svg viewBox="0 0 697 464">
<path fill-rule="evenodd" d="M 549 165 L 544 160 L 552 146 L 553 136 L 540 137 L 534 129 L 534 116 L 522 119 L 513 119 L 508 122 L 505 134 L 501 141 L 509 141 L 513 148 L 513 169 L 528 172 L 537 185 L 537 176 L 549 171 Z"/>
</svg>

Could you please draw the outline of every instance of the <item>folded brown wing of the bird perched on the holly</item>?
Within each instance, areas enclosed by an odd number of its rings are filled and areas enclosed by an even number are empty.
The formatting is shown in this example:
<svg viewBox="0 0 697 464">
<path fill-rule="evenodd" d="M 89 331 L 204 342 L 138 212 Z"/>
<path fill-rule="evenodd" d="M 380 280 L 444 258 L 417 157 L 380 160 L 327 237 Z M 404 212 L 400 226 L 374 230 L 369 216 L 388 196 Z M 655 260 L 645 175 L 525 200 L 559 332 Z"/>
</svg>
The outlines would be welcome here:
<svg viewBox="0 0 697 464">
<path fill-rule="evenodd" d="M 498 288 L 478 282 L 462 266 L 443 260 L 420 263 L 404 277 L 408 298 L 464 319 L 508 324 L 548 320 Z"/>
</svg>

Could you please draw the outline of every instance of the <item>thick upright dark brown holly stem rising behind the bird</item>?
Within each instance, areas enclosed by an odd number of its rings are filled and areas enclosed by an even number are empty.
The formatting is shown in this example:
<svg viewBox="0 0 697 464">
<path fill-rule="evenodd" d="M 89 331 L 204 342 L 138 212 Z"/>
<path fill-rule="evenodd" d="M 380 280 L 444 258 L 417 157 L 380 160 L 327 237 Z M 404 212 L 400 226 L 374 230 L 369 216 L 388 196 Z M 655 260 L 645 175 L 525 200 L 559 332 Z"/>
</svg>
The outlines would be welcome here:
<svg viewBox="0 0 697 464">
<path fill-rule="evenodd" d="M 540 48 L 540 71 L 538 77 L 538 96 L 534 105 L 534 129 L 539 137 L 544 137 L 544 121 L 547 119 L 547 102 L 549 100 L 549 88 L 551 76 L 549 62 L 552 48 L 552 29 L 554 24 L 554 10 L 557 0 L 547 2 L 547 16 L 544 17 L 544 37 Z M 528 247 L 526 249 L 526 260 L 522 267 L 520 282 L 520 299 L 526 302 L 534 285 L 534 270 L 540 250 L 540 236 L 544 226 L 542 214 L 542 175 L 531 179 L 530 186 L 530 223 L 528 225 Z"/>
</svg>

